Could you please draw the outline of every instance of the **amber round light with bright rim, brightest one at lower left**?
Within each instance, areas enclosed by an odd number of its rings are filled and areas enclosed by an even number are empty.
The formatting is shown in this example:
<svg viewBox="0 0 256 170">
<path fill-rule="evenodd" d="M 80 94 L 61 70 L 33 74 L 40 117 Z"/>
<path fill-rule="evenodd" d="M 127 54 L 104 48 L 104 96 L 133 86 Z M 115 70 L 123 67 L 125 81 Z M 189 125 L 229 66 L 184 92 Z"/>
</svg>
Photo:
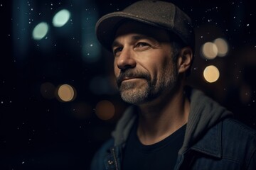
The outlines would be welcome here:
<svg viewBox="0 0 256 170">
<path fill-rule="evenodd" d="M 73 101 L 75 99 L 75 89 L 73 86 L 63 84 L 58 88 L 58 98 L 61 101 Z"/>
</svg>

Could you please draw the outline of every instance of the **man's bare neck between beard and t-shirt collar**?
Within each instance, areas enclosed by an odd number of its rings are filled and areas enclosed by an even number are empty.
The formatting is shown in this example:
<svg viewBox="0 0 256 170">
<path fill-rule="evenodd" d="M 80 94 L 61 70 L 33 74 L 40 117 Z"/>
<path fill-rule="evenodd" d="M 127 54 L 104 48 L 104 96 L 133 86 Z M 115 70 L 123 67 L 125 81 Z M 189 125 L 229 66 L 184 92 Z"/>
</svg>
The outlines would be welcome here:
<svg viewBox="0 0 256 170">
<path fill-rule="evenodd" d="M 137 135 L 144 145 L 151 145 L 164 140 L 187 123 L 190 104 L 181 87 L 174 94 L 139 108 Z"/>
</svg>

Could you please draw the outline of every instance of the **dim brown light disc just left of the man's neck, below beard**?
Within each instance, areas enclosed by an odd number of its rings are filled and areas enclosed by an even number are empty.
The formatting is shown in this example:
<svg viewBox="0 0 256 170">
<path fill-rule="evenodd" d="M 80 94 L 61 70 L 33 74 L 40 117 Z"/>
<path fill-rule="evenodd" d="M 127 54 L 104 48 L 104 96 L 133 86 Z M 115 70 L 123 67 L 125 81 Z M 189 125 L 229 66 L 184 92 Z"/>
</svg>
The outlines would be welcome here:
<svg viewBox="0 0 256 170">
<path fill-rule="evenodd" d="M 95 113 L 102 120 L 110 120 L 114 116 L 114 105 L 110 101 L 97 103 Z"/>
</svg>

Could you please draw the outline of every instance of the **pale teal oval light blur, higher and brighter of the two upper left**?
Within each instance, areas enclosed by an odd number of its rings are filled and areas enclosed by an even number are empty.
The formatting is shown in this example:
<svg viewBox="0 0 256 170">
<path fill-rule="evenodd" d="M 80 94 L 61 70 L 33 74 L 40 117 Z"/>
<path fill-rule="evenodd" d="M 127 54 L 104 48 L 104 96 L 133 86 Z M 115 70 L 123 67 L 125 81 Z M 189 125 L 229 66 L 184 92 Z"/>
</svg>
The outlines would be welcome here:
<svg viewBox="0 0 256 170">
<path fill-rule="evenodd" d="M 58 11 L 58 13 L 53 16 L 53 26 L 55 27 L 62 27 L 65 23 L 68 22 L 70 18 L 70 11 L 67 9 L 62 9 Z"/>
</svg>

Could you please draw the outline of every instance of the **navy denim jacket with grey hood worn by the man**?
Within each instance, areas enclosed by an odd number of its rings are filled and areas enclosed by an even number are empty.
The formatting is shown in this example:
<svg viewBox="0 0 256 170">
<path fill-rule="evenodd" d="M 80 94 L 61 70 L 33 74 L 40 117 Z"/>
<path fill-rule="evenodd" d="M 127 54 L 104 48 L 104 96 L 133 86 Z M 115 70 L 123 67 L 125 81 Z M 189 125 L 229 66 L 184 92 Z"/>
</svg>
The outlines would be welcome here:
<svg viewBox="0 0 256 170">
<path fill-rule="evenodd" d="M 201 91 L 187 92 L 191 101 L 183 146 L 174 169 L 256 169 L 256 132 Z M 122 150 L 137 117 L 132 106 L 117 123 L 112 138 L 95 154 L 91 170 L 121 169 Z"/>
</svg>

